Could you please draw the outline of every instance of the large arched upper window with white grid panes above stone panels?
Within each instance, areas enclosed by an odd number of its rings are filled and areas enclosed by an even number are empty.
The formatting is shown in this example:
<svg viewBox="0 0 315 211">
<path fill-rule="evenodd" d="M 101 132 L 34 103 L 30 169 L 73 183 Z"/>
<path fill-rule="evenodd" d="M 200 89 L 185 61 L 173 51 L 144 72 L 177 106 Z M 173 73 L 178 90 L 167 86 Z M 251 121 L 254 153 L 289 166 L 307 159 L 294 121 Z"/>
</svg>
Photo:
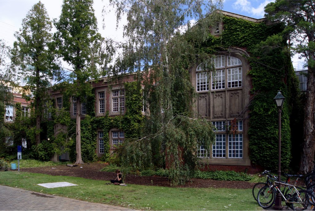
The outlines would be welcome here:
<svg viewBox="0 0 315 211">
<path fill-rule="evenodd" d="M 242 86 L 242 62 L 240 59 L 232 56 L 217 55 L 212 59 L 212 63 L 215 67 L 215 74 L 213 75 L 207 70 L 207 64 L 199 64 L 197 67 L 197 92 L 209 91 L 210 80 L 212 85 L 211 90 Z"/>
</svg>

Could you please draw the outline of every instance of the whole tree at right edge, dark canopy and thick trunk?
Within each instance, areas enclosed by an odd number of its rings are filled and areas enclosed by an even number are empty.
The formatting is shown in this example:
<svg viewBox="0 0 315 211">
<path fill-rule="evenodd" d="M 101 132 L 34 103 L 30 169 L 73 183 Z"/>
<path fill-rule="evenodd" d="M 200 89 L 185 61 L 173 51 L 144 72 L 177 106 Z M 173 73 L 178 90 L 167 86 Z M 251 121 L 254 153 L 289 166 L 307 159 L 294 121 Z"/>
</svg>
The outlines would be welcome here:
<svg viewBox="0 0 315 211">
<path fill-rule="evenodd" d="M 301 53 L 308 67 L 306 104 L 304 108 L 304 143 L 300 170 L 310 172 L 315 155 L 315 1 L 277 0 L 265 7 L 265 16 L 280 20 L 285 25 L 284 35 L 289 37 L 294 53 Z"/>
</svg>

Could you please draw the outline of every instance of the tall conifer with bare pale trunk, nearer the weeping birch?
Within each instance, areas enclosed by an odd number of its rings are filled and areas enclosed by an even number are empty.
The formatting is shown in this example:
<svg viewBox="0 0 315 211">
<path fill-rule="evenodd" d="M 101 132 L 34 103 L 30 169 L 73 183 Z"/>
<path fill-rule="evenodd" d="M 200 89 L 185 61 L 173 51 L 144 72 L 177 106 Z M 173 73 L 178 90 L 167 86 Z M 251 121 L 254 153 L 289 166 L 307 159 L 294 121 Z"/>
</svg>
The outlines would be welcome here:
<svg viewBox="0 0 315 211">
<path fill-rule="evenodd" d="M 81 157 L 81 103 L 92 89 L 87 81 L 98 78 L 106 58 L 104 38 L 97 32 L 97 20 L 92 0 L 64 0 L 61 15 L 54 22 L 54 46 L 58 54 L 71 65 L 70 85 L 67 91 L 77 99 L 76 114 L 76 164 L 83 164 Z M 108 57 L 107 57 L 108 58 Z M 98 66 L 99 65 L 99 66 Z"/>
</svg>

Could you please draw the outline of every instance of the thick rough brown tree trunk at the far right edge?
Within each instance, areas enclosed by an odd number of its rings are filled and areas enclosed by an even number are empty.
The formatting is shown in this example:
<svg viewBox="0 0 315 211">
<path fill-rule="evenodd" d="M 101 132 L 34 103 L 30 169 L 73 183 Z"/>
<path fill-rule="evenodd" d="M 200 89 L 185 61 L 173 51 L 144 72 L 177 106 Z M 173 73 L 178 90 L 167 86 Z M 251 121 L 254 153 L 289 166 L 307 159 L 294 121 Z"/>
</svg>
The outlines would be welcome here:
<svg viewBox="0 0 315 211">
<path fill-rule="evenodd" d="M 314 165 L 315 154 L 315 68 L 308 68 L 306 107 L 304 108 L 304 142 L 300 171 L 309 173 Z"/>
</svg>

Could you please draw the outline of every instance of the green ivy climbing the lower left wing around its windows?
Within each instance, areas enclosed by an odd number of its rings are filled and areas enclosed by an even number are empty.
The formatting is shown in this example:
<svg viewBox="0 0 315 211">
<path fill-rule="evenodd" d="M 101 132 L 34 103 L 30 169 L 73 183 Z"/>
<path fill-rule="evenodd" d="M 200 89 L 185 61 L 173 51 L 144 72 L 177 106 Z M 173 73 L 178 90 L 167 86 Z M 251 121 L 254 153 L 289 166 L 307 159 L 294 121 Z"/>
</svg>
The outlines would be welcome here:
<svg viewBox="0 0 315 211">
<path fill-rule="evenodd" d="M 108 112 L 103 117 L 95 117 L 95 94 L 94 89 L 91 95 L 87 96 L 87 114 L 81 120 L 81 149 L 84 162 L 94 162 L 97 160 L 108 161 L 110 159 L 110 144 L 108 132 L 111 128 L 119 128 L 125 132 L 125 142 L 128 138 L 139 137 L 143 115 L 142 108 L 142 91 L 141 86 L 137 82 L 129 82 L 124 84 L 125 87 L 125 115 L 109 116 Z M 69 151 L 70 159 L 76 159 L 76 133 L 75 119 L 70 118 L 70 94 L 63 93 L 63 108 L 58 116 L 53 115 L 53 121 L 48 121 L 47 137 L 54 146 L 54 152 L 61 154 Z M 53 112 L 54 113 L 54 112 Z M 65 125 L 67 130 L 61 130 L 54 137 L 54 125 Z M 97 157 L 97 130 L 104 132 L 104 155 Z M 63 150 L 60 150 L 63 147 Z"/>
</svg>

